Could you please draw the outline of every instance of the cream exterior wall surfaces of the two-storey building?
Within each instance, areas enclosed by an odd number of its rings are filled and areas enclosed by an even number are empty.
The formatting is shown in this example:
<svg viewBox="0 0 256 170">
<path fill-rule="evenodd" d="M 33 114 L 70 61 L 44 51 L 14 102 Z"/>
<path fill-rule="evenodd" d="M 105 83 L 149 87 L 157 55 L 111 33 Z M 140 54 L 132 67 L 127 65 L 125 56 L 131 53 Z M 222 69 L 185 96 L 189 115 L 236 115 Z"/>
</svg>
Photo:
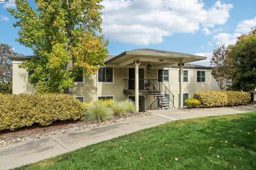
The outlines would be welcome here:
<svg viewBox="0 0 256 170">
<path fill-rule="evenodd" d="M 27 83 L 27 72 L 25 69 L 18 67 L 20 61 L 13 61 L 13 94 L 34 94 L 35 89 L 31 84 Z M 131 66 L 132 67 L 132 66 Z M 174 94 L 174 107 L 178 107 L 178 94 L 179 94 L 179 69 L 178 68 L 165 68 L 169 70 L 169 82 L 165 83 L 170 91 Z M 195 69 L 188 70 L 188 82 L 183 82 L 183 93 L 188 93 L 189 98 L 193 97 L 197 91 L 220 90 L 217 82 L 211 75 L 211 70 L 201 70 L 206 73 L 206 82 L 196 82 Z M 84 97 L 84 102 L 92 103 L 98 99 L 98 96 L 114 96 L 115 100 L 123 100 L 128 98 L 124 95 L 123 89 L 125 87 L 124 79 L 128 78 L 127 67 L 115 67 L 113 83 L 98 82 L 97 74 L 91 77 L 84 77 L 84 82 L 75 83 L 73 88 L 73 96 Z M 158 79 L 157 69 L 152 69 L 149 73 L 145 69 L 145 79 Z M 153 96 L 145 97 L 145 109 L 155 100 Z"/>
</svg>

